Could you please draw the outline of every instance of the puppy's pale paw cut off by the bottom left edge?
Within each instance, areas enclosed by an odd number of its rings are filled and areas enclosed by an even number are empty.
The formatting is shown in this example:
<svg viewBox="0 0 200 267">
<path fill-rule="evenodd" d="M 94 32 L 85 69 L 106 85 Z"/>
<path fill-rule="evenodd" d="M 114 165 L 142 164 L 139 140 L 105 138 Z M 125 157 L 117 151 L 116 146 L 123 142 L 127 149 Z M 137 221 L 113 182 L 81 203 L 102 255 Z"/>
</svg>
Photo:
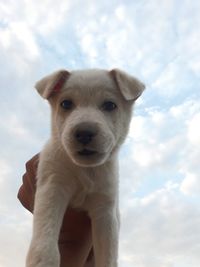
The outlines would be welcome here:
<svg viewBox="0 0 200 267">
<path fill-rule="evenodd" d="M 57 246 L 35 246 L 31 245 L 27 259 L 26 267 L 59 267 L 60 255 Z"/>
</svg>

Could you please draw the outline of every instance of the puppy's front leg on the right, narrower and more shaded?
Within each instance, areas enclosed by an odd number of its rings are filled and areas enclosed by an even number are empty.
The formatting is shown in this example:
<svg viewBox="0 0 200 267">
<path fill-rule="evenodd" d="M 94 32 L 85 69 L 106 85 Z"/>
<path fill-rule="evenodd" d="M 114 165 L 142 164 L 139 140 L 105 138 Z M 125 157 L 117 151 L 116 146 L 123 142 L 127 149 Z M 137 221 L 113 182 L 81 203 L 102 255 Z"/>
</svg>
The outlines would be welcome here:
<svg viewBox="0 0 200 267">
<path fill-rule="evenodd" d="M 90 214 L 95 267 L 117 267 L 119 213 L 116 205 L 97 209 Z"/>
</svg>

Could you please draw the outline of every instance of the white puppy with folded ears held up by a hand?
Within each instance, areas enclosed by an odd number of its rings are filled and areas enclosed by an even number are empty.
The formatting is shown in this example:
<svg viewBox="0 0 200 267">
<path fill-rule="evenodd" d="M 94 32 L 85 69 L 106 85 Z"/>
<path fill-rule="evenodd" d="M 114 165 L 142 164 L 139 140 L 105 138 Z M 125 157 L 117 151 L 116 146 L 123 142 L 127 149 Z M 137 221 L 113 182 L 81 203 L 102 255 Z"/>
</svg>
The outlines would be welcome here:
<svg viewBox="0 0 200 267">
<path fill-rule="evenodd" d="M 117 69 L 61 70 L 36 84 L 51 105 L 52 133 L 40 155 L 27 267 L 59 267 L 57 243 L 68 206 L 91 218 L 95 266 L 117 266 L 117 154 L 144 88 Z"/>
</svg>

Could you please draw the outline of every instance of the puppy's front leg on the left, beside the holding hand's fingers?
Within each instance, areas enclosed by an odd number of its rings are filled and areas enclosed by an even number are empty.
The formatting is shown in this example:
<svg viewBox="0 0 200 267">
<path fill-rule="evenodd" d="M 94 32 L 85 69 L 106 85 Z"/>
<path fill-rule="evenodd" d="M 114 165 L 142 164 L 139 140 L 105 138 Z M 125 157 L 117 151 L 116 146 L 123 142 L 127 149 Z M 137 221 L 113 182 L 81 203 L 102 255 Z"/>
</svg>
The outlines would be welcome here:
<svg viewBox="0 0 200 267">
<path fill-rule="evenodd" d="M 26 267 L 59 267 L 58 237 L 69 193 L 49 177 L 37 188 L 34 206 L 33 236 Z"/>
</svg>

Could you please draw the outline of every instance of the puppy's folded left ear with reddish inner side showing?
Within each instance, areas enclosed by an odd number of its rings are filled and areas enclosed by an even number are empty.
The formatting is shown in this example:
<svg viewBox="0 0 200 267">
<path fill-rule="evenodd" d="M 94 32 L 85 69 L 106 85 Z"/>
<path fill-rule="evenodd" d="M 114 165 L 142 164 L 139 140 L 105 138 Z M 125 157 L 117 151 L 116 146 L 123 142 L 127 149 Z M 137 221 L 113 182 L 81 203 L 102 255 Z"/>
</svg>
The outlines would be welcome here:
<svg viewBox="0 0 200 267">
<path fill-rule="evenodd" d="M 56 71 L 38 81 L 35 88 L 43 98 L 49 99 L 61 90 L 69 75 L 67 70 Z"/>
</svg>

